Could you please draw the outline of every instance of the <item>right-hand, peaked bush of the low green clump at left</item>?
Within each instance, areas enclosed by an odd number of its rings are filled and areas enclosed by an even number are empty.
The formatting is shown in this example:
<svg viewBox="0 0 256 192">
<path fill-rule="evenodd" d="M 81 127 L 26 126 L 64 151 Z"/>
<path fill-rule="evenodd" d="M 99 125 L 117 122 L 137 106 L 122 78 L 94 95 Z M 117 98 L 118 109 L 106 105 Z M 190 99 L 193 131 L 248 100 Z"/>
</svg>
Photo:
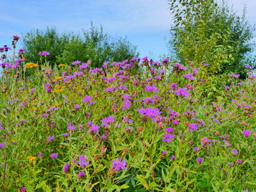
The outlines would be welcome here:
<svg viewBox="0 0 256 192">
<path fill-rule="evenodd" d="M 72 61 L 86 62 L 96 67 L 102 66 L 104 61 L 124 61 L 138 57 L 136 47 L 126 38 L 114 39 L 103 33 L 102 26 L 96 28 L 91 23 L 89 31 L 83 31 L 83 36 L 72 37 L 71 41 L 64 46 L 64 51 L 58 56 L 58 62 L 71 64 Z"/>
</svg>

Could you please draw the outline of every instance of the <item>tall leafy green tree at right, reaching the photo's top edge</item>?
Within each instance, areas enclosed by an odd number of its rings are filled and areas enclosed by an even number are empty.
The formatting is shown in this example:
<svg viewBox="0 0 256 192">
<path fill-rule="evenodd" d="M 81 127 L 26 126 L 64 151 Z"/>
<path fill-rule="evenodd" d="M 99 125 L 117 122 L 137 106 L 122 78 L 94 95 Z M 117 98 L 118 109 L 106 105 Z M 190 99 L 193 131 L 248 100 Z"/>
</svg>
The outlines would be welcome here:
<svg viewBox="0 0 256 192">
<path fill-rule="evenodd" d="M 245 73 L 246 54 L 252 52 L 254 28 L 244 14 L 215 0 L 169 0 L 174 25 L 170 41 L 179 61 L 209 64 L 209 72 Z M 251 61 L 252 62 L 252 61 Z"/>
</svg>

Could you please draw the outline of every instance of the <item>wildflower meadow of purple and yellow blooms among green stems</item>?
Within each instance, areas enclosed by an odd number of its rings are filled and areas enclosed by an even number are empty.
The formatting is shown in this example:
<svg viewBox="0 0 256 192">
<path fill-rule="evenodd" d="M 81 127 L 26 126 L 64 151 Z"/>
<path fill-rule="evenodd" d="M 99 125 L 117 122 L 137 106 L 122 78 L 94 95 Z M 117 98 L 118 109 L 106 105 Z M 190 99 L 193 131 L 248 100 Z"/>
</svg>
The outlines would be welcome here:
<svg viewBox="0 0 256 192">
<path fill-rule="evenodd" d="M 256 191 L 251 66 L 39 55 L 0 61 L 1 191 Z"/>
</svg>

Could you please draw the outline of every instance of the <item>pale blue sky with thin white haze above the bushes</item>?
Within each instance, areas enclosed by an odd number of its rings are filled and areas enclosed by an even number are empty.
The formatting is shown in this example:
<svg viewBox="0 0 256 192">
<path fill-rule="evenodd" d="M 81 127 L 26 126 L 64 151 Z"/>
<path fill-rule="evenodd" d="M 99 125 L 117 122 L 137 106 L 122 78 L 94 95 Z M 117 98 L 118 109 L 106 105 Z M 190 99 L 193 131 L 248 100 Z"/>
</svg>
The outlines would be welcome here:
<svg viewBox="0 0 256 192">
<path fill-rule="evenodd" d="M 241 13 L 247 5 L 249 23 L 256 23 L 255 0 L 228 0 Z M 127 37 L 140 56 L 167 54 L 172 23 L 167 0 L 4 0 L 1 1 L 0 47 L 13 34 L 53 26 L 59 32 L 80 32 L 91 21 L 114 37 Z M 19 47 L 21 47 L 20 45 Z"/>
</svg>

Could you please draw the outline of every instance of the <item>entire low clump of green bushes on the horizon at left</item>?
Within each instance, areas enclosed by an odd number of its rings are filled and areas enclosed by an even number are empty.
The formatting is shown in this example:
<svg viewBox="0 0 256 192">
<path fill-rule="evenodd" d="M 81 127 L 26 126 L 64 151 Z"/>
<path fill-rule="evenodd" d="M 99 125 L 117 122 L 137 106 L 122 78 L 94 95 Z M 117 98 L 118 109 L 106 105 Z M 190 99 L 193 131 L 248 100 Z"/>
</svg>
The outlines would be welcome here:
<svg viewBox="0 0 256 192">
<path fill-rule="evenodd" d="M 60 35 L 56 28 L 30 31 L 23 35 L 23 44 L 28 61 L 41 63 L 38 53 L 46 50 L 50 52 L 48 62 L 52 66 L 91 60 L 92 66 L 99 67 L 104 61 L 124 61 L 138 56 L 137 48 L 127 38 L 113 38 L 105 34 L 102 27 L 96 28 L 92 24 L 83 35 Z"/>
</svg>

